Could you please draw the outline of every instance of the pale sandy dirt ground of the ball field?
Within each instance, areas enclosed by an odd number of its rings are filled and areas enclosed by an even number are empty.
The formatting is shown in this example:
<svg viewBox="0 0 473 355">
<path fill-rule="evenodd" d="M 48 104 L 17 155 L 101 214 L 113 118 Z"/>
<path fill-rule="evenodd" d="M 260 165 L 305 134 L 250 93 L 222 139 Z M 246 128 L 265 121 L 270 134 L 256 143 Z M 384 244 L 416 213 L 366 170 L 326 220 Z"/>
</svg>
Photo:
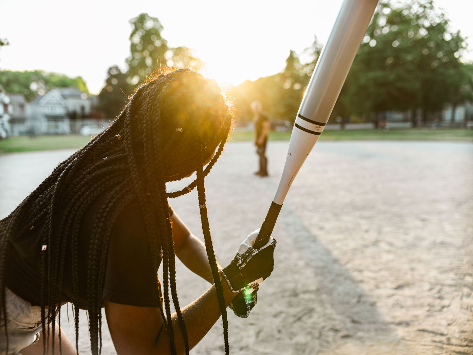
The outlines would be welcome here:
<svg viewBox="0 0 473 355">
<path fill-rule="evenodd" d="M 228 144 L 210 173 L 221 264 L 261 225 L 287 147 L 269 143 L 268 178 L 253 176 L 249 142 Z M 0 156 L 0 218 L 70 153 Z M 197 196 L 171 204 L 201 237 Z M 282 208 L 258 305 L 248 319 L 229 313 L 231 354 L 473 354 L 472 212 L 472 143 L 318 142 Z M 209 286 L 182 264 L 177 277 L 181 305 Z M 88 354 L 84 315 L 81 323 Z M 73 339 L 64 316 L 62 327 Z M 115 354 L 106 330 L 103 338 L 103 354 Z M 223 353 L 220 321 L 191 353 Z"/>
</svg>

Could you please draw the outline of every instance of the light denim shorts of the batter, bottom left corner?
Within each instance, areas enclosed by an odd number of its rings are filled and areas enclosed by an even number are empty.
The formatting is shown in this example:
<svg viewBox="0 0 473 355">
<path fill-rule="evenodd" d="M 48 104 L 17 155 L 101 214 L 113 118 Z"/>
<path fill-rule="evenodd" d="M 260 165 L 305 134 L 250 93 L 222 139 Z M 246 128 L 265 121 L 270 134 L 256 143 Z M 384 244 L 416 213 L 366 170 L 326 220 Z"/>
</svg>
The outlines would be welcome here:
<svg viewBox="0 0 473 355">
<path fill-rule="evenodd" d="M 3 317 L 0 319 L 0 355 L 19 355 L 20 350 L 34 344 L 41 331 L 41 307 L 32 306 L 5 287 L 7 302 L 7 338 Z M 0 312 L 1 314 L 1 312 Z"/>
</svg>

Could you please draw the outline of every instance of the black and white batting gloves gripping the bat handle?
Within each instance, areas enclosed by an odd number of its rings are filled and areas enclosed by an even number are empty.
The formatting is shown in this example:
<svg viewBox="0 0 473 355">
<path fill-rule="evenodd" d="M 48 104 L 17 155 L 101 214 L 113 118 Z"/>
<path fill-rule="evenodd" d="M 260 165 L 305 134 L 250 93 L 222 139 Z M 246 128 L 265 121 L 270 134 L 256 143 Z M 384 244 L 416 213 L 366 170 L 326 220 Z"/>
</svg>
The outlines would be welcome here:
<svg viewBox="0 0 473 355">
<path fill-rule="evenodd" d="M 257 229 L 246 237 L 230 264 L 220 271 L 230 290 L 238 293 L 230 308 L 242 318 L 248 317 L 253 309 L 259 284 L 271 275 L 274 266 L 275 239 L 270 237 L 262 248 L 253 248 L 259 231 Z"/>
</svg>

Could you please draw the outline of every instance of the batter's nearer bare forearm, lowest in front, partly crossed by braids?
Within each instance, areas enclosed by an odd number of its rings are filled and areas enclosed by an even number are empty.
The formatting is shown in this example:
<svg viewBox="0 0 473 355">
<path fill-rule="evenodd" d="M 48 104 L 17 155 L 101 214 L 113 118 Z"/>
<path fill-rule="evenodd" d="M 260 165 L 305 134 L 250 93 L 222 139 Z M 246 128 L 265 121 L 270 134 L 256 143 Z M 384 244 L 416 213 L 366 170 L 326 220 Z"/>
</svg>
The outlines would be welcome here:
<svg viewBox="0 0 473 355">
<path fill-rule="evenodd" d="M 225 306 L 228 306 L 235 298 L 236 293 L 231 292 L 223 277 L 220 277 L 220 281 L 223 287 Z M 210 328 L 212 328 L 221 316 L 219 299 L 215 291 L 215 284 L 213 284 L 207 292 L 202 294 L 197 300 L 182 308 L 181 312 L 186 326 L 189 349 L 192 349 L 207 334 Z M 172 323 L 177 354 L 185 354 L 184 337 L 176 313 L 172 315 Z M 161 331 L 158 335 L 155 353 L 170 353 L 169 337 L 164 325 L 161 327 Z"/>
</svg>

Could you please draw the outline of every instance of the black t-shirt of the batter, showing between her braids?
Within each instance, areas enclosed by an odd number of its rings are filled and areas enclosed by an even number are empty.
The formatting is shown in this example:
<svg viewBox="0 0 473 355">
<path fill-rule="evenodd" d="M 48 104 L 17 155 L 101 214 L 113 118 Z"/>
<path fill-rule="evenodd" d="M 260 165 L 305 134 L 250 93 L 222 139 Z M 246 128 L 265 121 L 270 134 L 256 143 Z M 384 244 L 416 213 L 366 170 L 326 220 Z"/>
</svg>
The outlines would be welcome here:
<svg viewBox="0 0 473 355">
<path fill-rule="evenodd" d="M 94 220 L 105 203 L 99 196 L 82 220 L 78 242 L 79 293 L 77 306 L 87 309 L 87 262 L 89 238 Z M 173 210 L 169 206 L 172 215 Z M 41 304 L 41 248 L 44 226 L 35 226 L 10 243 L 5 274 L 6 286 L 32 305 Z M 159 241 L 158 241 L 159 242 Z M 159 253 L 160 245 L 156 245 Z M 67 246 L 61 300 L 73 302 L 72 255 Z M 161 262 L 158 255 L 158 264 Z M 131 203 L 115 222 L 109 241 L 102 299 L 141 307 L 158 307 L 156 273 L 152 272 L 151 251 L 144 216 L 137 201 Z M 47 302 L 47 301 L 46 301 Z"/>
</svg>

